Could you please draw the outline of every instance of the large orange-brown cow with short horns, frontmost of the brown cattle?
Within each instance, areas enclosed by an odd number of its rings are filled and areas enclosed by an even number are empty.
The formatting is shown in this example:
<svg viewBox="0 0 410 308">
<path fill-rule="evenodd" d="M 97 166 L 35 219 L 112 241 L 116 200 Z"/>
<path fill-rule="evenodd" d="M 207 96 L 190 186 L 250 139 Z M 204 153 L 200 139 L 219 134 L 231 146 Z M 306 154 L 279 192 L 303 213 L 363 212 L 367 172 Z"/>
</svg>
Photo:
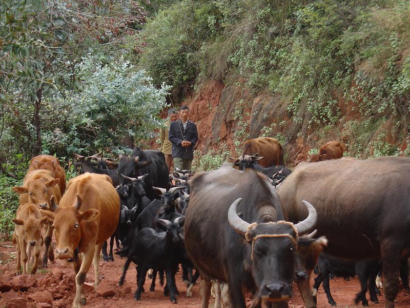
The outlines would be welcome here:
<svg viewBox="0 0 410 308">
<path fill-rule="evenodd" d="M 73 262 L 77 285 L 73 307 L 81 307 L 86 302 L 83 285 L 91 263 L 94 287 L 99 282 L 99 254 L 117 227 L 119 197 L 109 176 L 86 173 L 68 182 L 59 206 L 54 198 L 51 204 L 54 213 L 42 213 L 54 221 L 57 258 Z"/>
</svg>

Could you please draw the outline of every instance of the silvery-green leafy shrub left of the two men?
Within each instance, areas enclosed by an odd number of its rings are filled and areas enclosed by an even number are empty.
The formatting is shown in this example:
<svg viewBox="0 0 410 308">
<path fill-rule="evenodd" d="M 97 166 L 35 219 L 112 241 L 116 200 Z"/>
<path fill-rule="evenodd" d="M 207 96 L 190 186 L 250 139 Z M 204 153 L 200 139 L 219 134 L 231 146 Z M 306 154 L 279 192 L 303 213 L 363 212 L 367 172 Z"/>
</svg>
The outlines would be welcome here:
<svg viewBox="0 0 410 308">
<path fill-rule="evenodd" d="M 69 121 L 43 132 L 44 153 L 124 153 L 124 137 L 132 136 L 137 143 L 154 138 L 153 130 L 161 125 L 156 114 L 167 105 L 169 87 L 157 89 L 144 71 L 122 58 L 94 56 L 77 66 L 81 77 L 67 104 Z"/>
</svg>

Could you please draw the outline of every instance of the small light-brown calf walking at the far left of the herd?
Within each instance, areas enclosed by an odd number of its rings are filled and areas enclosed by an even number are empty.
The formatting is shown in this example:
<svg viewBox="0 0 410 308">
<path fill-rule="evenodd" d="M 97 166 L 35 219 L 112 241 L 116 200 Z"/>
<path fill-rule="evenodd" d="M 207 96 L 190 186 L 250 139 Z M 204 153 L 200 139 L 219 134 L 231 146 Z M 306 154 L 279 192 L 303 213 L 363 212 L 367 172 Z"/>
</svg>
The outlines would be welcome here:
<svg viewBox="0 0 410 308">
<path fill-rule="evenodd" d="M 47 217 L 43 217 L 36 204 L 23 203 L 17 209 L 16 219 L 13 222 L 16 224 L 14 235 L 17 242 L 17 275 L 26 275 L 29 271 L 29 260 L 31 255 L 31 247 L 34 249 L 34 263 L 31 269 L 31 274 L 37 271 L 38 256 L 43 245 L 42 224 L 47 221 Z M 23 271 L 20 260 L 23 260 Z"/>
</svg>

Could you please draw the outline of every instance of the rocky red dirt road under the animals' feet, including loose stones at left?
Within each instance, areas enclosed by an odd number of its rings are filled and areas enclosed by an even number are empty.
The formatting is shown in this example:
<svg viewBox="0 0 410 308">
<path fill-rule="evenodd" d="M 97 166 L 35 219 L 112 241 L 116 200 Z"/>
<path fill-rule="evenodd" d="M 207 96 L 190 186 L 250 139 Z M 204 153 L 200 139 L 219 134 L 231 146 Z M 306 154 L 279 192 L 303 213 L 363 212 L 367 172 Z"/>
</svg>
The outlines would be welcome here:
<svg viewBox="0 0 410 308">
<path fill-rule="evenodd" d="M 6 245 L 6 246 L 5 246 Z M 11 246 L 11 247 L 10 247 Z M 0 243 L 0 255 L 4 259 L 0 265 L 0 307 L 22 308 L 22 307 L 71 307 L 75 296 L 75 277 L 71 263 L 57 260 L 51 263 L 47 269 L 41 269 L 34 275 L 15 276 L 15 247 L 11 242 Z M 115 258 L 114 262 L 99 262 L 101 283 L 94 290 L 93 267 L 87 275 L 85 293 L 87 304 L 84 307 L 152 307 L 152 308 L 190 308 L 200 307 L 199 287 L 193 288 L 192 298 L 187 298 L 187 290 L 181 279 L 181 273 L 176 275 L 176 283 L 179 290 L 178 302 L 172 304 L 169 297 L 162 293 L 162 287 L 157 278 L 154 292 L 149 291 L 151 280 L 147 278 L 145 293 L 142 293 L 141 301 L 135 301 L 133 296 L 136 289 L 136 271 L 130 267 L 124 285 L 118 286 L 118 280 L 122 273 L 125 259 Z M 313 278 L 312 278 L 313 280 Z M 312 283 L 311 283 L 312 284 Z M 345 281 L 343 278 L 331 280 L 331 292 L 341 307 L 356 307 L 353 304 L 356 293 L 360 290 L 360 284 L 356 278 Z M 289 302 L 290 308 L 302 308 L 303 301 L 297 290 L 293 287 L 294 296 Z M 367 298 L 369 298 L 367 294 Z M 251 303 L 248 298 L 247 305 Z M 361 307 L 361 305 L 359 305 Z M 358 307 L 359 307 L 358 306 Z M 410 306 L 410 295 L 403 289 L 400 290 L 396 307 L 404 308 Z M 213 307 L 211 300 L 210 307 Z M 318 308 L 331 307 L 327 303 L 322 287 L 318 292 Z M 370 303 L 370 307 L 384 307 L 384 297 L 379 296 L 379 303 Z"/>
</svg>

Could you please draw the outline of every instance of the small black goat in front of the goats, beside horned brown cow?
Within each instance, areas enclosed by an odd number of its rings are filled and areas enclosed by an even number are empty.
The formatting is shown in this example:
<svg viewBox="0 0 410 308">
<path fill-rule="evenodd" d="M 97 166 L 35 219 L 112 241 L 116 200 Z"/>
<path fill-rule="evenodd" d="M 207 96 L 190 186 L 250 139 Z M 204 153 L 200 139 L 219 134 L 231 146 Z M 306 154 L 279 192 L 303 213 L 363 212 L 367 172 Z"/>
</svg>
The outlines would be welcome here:
<svg viewBox="0 0 410 308">
<path fill-rule="evenodd" d="M 175 285 L 176 256 L 181 241 L 179 232 L 183 226 L 183 221 L 183 217 L 178 217 L 173 222 L 157 219 L 157 227 L 165 232 L 157 233 L 152 228 L 143 228 L 132 242 L 132 248 L 124 265 L 119 285 L 124 283 L 131 261 L 138 264 L 138 287 L 134 295 L 136 300 L 141 299 L 141 291 L 142 287 L 144 287 L 148 269 L 154 268 L 157 271 L 165 271 L 171 301 L 176 303 L 176 295 L 178 293 Z"/>
</svg>

